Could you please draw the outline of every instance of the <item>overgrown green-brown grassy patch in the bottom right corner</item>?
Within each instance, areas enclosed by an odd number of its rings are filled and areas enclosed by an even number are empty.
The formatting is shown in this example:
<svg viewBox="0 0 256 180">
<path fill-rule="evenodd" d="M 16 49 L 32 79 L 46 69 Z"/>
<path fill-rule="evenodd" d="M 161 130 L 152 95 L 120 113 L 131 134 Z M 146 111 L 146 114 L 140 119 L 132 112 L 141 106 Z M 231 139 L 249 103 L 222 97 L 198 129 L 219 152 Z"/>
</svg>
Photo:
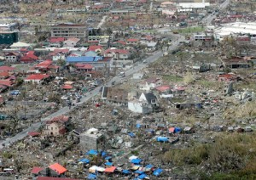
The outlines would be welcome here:
<svg viewBox="0 0 256 180">
<path fill-rule="evenodd" d="M 201 179 L 211 172 L 211 179 L 255 179 L 255 132 L 227 133 L 214 138 L 214 143 L 191 143 L 187 149 L 171 149 L 162 160 L 176 166 L 207 166 L 197 173 Z M 206 171 L 210 170 L 210 171 Z"/>
</svg>

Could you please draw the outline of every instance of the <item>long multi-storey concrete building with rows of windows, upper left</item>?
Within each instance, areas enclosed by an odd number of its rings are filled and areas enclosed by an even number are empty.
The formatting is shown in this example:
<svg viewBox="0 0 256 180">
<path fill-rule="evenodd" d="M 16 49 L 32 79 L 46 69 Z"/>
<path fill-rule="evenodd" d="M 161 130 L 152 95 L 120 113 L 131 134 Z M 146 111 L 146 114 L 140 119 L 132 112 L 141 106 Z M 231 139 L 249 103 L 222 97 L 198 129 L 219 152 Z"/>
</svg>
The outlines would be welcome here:
<svg viewBox="0 0 256 180">
<path fill-rule="evenodd" d="M 77 37 L 83 39 L 87 37 L 87 29 L 85 25 L 59 24 L 51 26 L 50 35 L 51 37 Z"/>
</svg>

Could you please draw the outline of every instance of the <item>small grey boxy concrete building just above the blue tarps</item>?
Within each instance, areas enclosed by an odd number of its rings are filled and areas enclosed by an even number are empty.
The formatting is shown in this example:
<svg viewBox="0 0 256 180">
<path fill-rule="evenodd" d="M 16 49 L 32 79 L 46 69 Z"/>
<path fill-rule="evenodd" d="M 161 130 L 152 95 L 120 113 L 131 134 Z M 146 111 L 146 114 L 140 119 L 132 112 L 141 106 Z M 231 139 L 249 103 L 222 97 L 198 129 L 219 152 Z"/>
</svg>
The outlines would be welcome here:
<svg viewBox="0 0 256 180">
<path fill-rule="evenodd" d="M 80 134 L 80 145 L 84 149 L 104 149 L 105 137 L 96 128 L 90 128 Z"/>
</svg>

